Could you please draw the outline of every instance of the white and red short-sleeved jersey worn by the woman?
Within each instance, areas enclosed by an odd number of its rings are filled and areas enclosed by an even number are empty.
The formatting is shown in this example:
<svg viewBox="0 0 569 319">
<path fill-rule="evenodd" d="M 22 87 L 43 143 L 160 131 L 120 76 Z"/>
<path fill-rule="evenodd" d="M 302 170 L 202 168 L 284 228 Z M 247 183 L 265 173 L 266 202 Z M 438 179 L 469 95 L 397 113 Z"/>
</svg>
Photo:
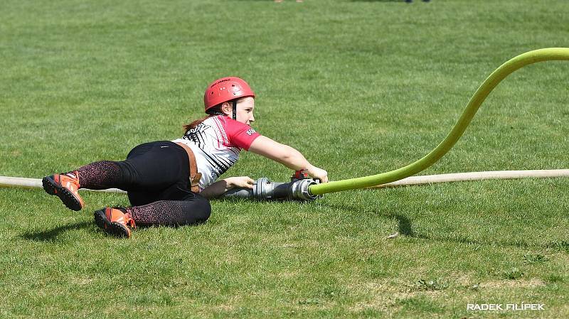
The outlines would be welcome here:
<svg viewBox="0 0 569 319">
<path fill-rule="evenodd" d="M 205 119 L 173 142 L 186 144 L 196 156 L 202 191 L 233 166 L 239 159 L 241 149 L 248 151 L 259 136 L 251 126 L 217 115 Z"/>
</svg>

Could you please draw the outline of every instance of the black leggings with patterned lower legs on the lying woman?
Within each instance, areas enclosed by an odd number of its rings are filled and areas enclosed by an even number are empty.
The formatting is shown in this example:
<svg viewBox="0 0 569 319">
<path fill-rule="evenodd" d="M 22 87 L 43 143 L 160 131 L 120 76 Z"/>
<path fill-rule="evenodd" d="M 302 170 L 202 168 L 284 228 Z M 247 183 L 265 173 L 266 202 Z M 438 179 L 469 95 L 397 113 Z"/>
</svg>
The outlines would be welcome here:
<svg viewBox="0 0 569 319">
<path fill-rule="evenodd" d="M 139 225 L 188 225 L 205 222 L 211 205 L 189 188 L 184 148 L 155 141 L 132 148 L 125 161 L 98 161 L 78 168 L 81 188 L 126 190 L 126 207 Z"/>
</svg>

